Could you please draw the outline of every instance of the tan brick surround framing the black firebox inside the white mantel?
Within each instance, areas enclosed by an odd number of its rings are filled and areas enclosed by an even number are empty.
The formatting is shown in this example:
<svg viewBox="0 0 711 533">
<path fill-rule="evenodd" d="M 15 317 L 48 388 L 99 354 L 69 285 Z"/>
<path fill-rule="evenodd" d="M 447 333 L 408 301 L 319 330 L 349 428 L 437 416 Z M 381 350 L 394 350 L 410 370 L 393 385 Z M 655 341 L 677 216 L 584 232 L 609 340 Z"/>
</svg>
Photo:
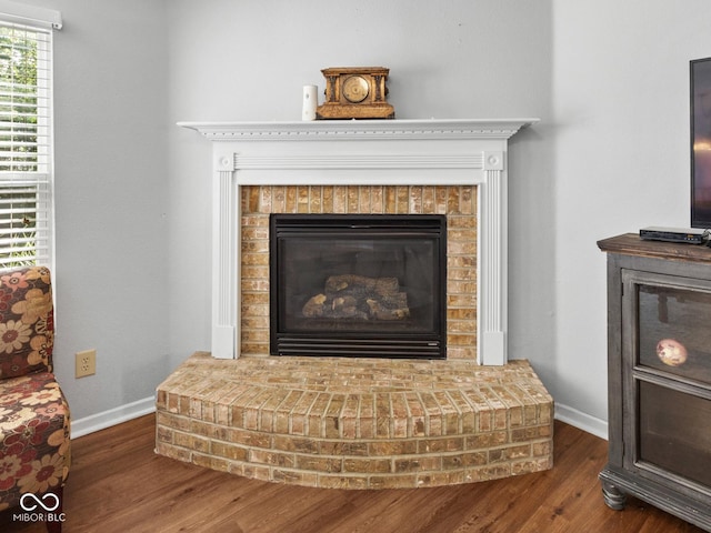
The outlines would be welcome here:
<svg viewBox="0 0 711 533">
<path fill-rule="evenodd" d="M 477 360 L 477 188 L 242 188 L 241 353 L 269 354 L 269 214 L 445 214 L 447 358 Z"/>
</svg>

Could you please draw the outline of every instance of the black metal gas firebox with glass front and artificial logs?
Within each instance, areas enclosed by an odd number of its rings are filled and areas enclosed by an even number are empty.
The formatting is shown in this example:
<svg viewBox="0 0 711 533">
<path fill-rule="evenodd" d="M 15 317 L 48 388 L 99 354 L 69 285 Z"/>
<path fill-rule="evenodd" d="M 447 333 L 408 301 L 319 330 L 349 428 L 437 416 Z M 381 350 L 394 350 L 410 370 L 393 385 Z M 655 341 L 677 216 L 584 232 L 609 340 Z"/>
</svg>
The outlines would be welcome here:
<svg viewBox="0 0 711 533">
<path fill-rule="evenodd" d="M 273 355 L 445 359 L 444 215 L 272 214 Z"/>
</svg>

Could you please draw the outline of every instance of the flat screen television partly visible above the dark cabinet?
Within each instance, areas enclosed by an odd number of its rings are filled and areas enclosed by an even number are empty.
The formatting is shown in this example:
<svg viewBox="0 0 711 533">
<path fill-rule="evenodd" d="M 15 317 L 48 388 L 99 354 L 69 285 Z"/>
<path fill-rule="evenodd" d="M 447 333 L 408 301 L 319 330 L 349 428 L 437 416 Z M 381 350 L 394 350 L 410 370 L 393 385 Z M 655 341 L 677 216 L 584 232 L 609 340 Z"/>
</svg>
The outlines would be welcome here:
<svg viewBox="0 0 711 533">
<path fill-rule="evenodd" d="M 711 229 L 711 58 L 690 62 L 691 227 Z"/>
</svg>

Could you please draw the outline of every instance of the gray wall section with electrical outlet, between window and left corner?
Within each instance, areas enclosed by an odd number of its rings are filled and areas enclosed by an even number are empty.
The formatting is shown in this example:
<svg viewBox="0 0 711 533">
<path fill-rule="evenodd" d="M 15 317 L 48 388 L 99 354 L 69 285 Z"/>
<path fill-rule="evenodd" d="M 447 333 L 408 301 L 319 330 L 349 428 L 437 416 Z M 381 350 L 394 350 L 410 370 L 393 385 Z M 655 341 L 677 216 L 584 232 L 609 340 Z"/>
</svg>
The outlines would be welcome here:
<svg viewBox="0 0 711 533">
<path fill-rule="evenodd" d="M 154 394 L 168 331 L 164 2 L 59 0 L 54 37 L 56 372 L 72 419 Z M 74 379 L 74 352 L 97 375 Z"/>
</svg>

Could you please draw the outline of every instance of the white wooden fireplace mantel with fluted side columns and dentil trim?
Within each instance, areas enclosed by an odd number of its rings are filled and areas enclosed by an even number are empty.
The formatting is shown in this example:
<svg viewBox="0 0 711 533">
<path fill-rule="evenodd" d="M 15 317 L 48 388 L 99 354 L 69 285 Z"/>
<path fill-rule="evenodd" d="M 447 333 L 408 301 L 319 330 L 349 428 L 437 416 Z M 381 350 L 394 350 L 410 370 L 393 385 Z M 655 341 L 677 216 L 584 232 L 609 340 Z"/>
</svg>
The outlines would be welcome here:
<svg viewBox="0 0 711 533">
<path fill-rule="evenodd" d="M 179 122 L 213 141 L 212 355 L 238 358 L 242 185 L 478 185 L 478 354 L 507 362 L 507 147 L 538 119 Z"/>
</svg>

